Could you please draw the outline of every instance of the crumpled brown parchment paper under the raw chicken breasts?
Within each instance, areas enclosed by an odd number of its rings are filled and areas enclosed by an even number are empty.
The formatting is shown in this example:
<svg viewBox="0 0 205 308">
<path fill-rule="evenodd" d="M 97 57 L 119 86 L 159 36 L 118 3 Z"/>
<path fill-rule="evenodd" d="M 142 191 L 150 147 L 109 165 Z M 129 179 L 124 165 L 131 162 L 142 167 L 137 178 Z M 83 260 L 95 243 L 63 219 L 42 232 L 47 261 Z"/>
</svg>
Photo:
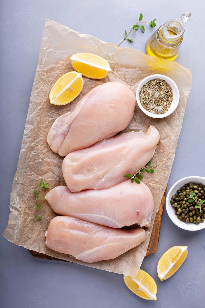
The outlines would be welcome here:
<svg viewBox="0 0 205 308">
<path fill-rule="evenodd" d="M 83 77 L 84 88 L 72 103 L 65 106 L 51 105 L 49 91 L 57 79 L 66 72 L 73 71 L 69 58 L 77 52 L 91 52 L 102 56 L 110 63 L 112 72 L 102 80 Z M 155 168 L 154 174 L 144 172 L 143 179 L 151 189 L 155 201 L 152 226 L 147 228 L 150 233 L 146 241 L 114 260 L 96 263 L 84 263 L 72 256 L 47 248 L 45 246 L 45 231 L 49 221 L 56 214 L 45 200 L 40 199 L 41 210 L 38 211 L 38 215 L 42 219 L 35 222 L 33 190 L 37 188 L 37 181 L 40 177 L 50 184 L 50 188 L 65 184 L 61 170 L 63 159 L 53 153 L 46 142 L 51 125 L 58 116 L 70 111 L 93 87 L 108 81 L 118 81 L 128 85 L 135 93 L 140 80 L 151 74 L 164 74 L 172 78 L 179 87 L 180 101 L 172 115 L 159 120 L 144 115 L 137 106 L 132 121 L 124 130 L 124 132 L 129 132 L 144 129 L 146 132 L 149 125 L 152 124 L 160 132 L 160 142 L 152 158 L 152 163 L 158 167 Z M 120 48 L 113 43 L 102 42 L 91 35 L 75 32 L 64 25 L 47 20 L 41 41 L 17 172 L 11 191 L 11 213 L 3 236 L 16 245 L 49 256 L 110 272 L 136 275 L 146 255 L 154 218 L 171 172 L 190 88 L 191 70 L 174 61 L 150 57 L 141 51 L 128 47 Z M 42 191 L 42 196 L 46 192 L 48 190 Z"/>
</svg>

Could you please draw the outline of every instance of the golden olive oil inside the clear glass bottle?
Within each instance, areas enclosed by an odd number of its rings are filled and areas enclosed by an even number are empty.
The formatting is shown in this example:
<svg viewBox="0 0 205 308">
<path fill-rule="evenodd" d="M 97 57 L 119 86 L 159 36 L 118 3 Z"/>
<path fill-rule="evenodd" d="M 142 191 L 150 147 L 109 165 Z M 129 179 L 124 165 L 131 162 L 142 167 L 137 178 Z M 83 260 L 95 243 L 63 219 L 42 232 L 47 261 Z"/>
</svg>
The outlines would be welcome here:
<svg viewBox="0 0 205 308">
<path fill-rule="evenodd" d="M 175 29 L 168 29 L 169 33 L 176 35 Z M 176 42 L 168 42 L 162 36 L 162 27 L 160 27 L 152 36 L 150 36 L 145 44 L 145 53 L 150 56 L 160 57 L 168 60 L 175 60 L 179 54 L 182 39 Z"/>
</svg>

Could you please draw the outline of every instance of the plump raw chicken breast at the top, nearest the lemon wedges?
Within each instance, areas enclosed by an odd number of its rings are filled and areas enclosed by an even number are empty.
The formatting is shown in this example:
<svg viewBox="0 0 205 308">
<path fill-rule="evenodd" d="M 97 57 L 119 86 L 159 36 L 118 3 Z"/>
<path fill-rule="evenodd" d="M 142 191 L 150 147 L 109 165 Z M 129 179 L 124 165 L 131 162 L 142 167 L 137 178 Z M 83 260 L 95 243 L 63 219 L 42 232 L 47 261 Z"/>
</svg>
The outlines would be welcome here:
<svg viewBox="0 0 205 308">
<path fill-rule="evenodd" d="M 71 112 L 55 120 L 48 144 L 60 156 L 88 148 L 123 130 L 131 121 L 135 106 L 135 95 L 127 86 L 104 83 L 89 91 Z"/>
</svg>

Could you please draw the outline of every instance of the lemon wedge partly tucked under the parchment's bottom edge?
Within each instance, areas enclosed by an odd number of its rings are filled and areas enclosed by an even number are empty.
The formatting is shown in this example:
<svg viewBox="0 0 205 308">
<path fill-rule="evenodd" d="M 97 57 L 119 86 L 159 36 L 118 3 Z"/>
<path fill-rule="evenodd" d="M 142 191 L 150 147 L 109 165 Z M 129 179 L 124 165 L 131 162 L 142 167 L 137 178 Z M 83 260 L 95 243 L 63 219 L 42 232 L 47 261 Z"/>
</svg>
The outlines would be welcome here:
<svg viewBox="0 0 205 308">
<path fill-rule="evenodd" d="M 136 277 L 124 275 L 124 283 L 137 296 L 156 301 L 157 285 L 154 279 L 144 270 L 139 270 Z"/>
</svg>

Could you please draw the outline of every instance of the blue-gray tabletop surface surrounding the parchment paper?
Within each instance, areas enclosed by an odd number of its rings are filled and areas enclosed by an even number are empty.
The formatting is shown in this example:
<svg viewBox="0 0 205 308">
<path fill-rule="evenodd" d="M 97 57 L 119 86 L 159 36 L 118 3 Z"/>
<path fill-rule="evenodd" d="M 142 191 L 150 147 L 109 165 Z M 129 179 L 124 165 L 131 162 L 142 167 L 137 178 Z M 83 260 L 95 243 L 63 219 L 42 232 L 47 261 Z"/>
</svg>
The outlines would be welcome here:
<svg viewBox="0 0 205 308">
<path fill-rule="evenodd" d="M 180 17 L 189 10 L 184 41 L 177 62 L 193 67 L 193 82 L 168 188 L 184 176 L 205 176 L 204 164 L 204 1 L 1 1 L 1 218 L 0 232 L 9 217 L 10 190 L 16 172 L 30 93 L 37 66 L 45 19 L 81 33 L 119 43 L 124 29 L 138 19 Z M 129 46 L 144 51 L 152 29 L 131 36 Z M 205 285 L 205 230 L 182 231 L 164 211 L 158 251 L 146 257 L 142 269 L 156 280 L 157 302 L 145 301 L 123 282 L 123 276 L 60 261 L 34 259 L 29 251 L 0 237 L 1 307 L 203 307 Z M 156 265 L 173 245 L 188 245 L 189 254 L 178 272 L 160 282 Z M 12 294 L 12 295 L 11 295 Z M 200 294 L 200 295 L 199 295 Z"/>
</svg>

